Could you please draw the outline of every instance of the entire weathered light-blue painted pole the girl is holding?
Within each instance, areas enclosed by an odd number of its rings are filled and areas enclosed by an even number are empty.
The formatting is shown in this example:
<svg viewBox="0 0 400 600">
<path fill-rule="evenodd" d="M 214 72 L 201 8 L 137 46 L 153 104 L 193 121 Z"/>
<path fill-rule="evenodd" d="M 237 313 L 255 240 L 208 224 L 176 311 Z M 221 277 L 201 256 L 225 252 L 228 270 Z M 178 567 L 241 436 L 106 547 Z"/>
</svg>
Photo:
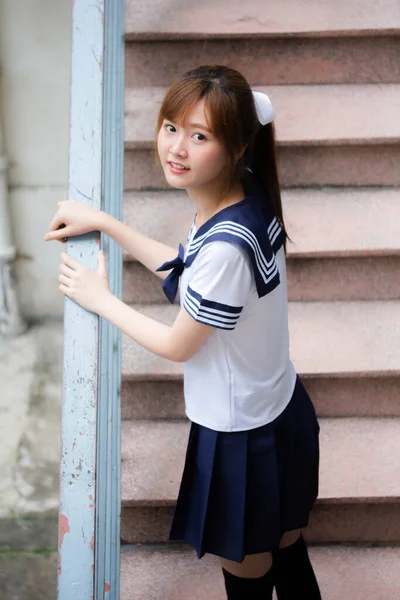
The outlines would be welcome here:
<svg viewBox="0 0 400 600">
<path fill-rule="evenodd" d="M 123 13 L 122 0 L 73 2 L 68 197 L 118 218 Z M 111 242 L 102 246 L 110 287 L 120 295 L 122 257 Z M 95 233 L 67 242 L 68 254 L 93 270 L 98 251 Z M 99 321 L 65 299 L 58 600 L 119 598 L 120 338 Z"/>
</svg>

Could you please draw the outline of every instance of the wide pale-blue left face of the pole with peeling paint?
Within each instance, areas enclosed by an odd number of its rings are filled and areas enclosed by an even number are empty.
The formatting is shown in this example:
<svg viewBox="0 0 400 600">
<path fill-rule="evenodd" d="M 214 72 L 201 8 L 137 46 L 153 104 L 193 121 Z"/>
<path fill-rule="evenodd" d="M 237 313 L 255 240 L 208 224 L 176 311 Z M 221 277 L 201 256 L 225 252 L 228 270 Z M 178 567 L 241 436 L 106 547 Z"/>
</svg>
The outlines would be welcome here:
<svg viewBox="0 0 400 600">
<path fill-rule="evenodd" d="M 69 198 L 101 208 L 104 1 L 75 0 L 72 20 Z M 95 270 L 95 233 L 67 253 Z M 69 298 L 64 309 L 58 599 L 94 595 L 99 319 Z"/>
</svg>

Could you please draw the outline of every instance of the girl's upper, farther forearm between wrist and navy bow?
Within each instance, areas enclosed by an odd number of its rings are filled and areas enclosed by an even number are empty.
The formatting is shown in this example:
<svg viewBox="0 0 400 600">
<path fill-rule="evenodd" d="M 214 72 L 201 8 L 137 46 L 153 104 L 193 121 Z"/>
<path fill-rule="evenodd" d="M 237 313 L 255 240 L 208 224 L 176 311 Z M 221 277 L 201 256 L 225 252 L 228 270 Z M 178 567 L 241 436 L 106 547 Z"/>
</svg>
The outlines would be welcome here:
<svg viewBox="0 0 400 600">
<path fill-rule="evenodd" d="M 142 265 L 160 277 L 160 279 L 166 278 L 168 271 L 156 273 L 156 269 L 164 262 L 175 258 L 178 254 L 177 248 L 171 248 L 166 244 L 162 244 L 134 231 L 128 225 L 125 225 L 125 223 L 118 221 L 118 219 L 105 212 L 101 214 L 100 229 L 112 237 L 122 248 L 125 248 Z"/>
</svg>

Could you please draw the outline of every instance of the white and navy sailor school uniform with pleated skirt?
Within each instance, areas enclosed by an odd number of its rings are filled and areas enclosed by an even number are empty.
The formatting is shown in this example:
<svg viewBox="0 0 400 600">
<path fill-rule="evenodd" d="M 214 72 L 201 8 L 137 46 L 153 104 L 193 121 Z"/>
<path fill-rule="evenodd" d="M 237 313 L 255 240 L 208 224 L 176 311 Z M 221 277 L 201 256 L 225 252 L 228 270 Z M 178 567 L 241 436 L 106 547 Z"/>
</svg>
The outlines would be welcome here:
<svg viewBox="0 0 400 600">
<path fill-rule="evenodd" d="M 305 527 L 318 495 L 319 424 L 289 355 L 285 235 L 258 192 L 215 214 L 164 291 L 211 335 L 184 363 L 192 422 L 170 540 L 241 562 Z"/>
</svg>

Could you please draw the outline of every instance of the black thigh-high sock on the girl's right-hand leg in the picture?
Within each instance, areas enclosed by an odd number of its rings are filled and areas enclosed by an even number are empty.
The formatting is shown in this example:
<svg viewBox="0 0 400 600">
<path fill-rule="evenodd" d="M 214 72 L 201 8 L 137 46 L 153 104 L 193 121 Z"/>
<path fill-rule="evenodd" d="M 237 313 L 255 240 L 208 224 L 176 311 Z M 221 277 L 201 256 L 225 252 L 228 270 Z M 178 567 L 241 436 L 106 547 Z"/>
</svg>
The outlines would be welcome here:
<svg viewBox="0 0 400 600">
<path fill-rule="evenodd" d="M 303 536 L 273 552 L 274 585 L 278 600 L 321 600 Z"/>
</svg>

